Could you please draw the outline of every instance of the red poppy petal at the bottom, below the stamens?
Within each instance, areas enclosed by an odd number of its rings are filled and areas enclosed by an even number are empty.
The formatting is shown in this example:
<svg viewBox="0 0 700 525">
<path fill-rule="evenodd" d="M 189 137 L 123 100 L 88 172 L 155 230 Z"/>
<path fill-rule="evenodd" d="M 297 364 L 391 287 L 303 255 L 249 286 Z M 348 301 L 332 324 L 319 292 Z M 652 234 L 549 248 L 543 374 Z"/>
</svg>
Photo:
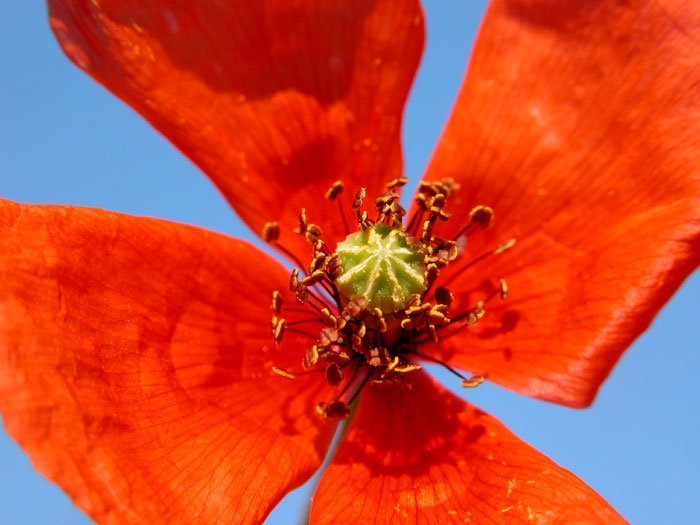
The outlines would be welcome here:
<svg viewBox="0 0 700 525">
<path fill-rule="evenodd" d="M 316 490 L 311 523 L 624 523 L 495 418 L 420 374 L 370 387 Z"/>
</svg>

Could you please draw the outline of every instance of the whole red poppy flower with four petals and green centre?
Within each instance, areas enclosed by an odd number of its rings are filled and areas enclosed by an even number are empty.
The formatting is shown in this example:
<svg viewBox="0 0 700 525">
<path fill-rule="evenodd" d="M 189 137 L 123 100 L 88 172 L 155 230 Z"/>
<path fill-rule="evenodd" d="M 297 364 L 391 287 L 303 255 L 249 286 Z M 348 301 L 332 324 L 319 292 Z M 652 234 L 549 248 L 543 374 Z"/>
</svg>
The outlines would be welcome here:
<svg viewBox="0 0 700 525">
<path fill-rule="evenodd" d="M 69 57 L 308 274 L 290 291 L 279 263 L 235 239 L 2 201 L 0 410 L 78 506 L 105 523 L 259 522 L 318 468 L 357 398 L 312 523 L 621 520 L 412 368 L 421 357 L 476 374 L 467 386 L 487 376 L 591 402 L 698 266 L 697 7 L 493 1 L 402 222 L 383 185 L 402 183 L 415 0 L 49 6 Z M 352 206 L 353 187 L 382 196 L 376 217 Z M 374 220 L 410 234 L 397 234 L 400 290 L 381 300 L 340 280 L 366 261 L 334 258 L 355 208 L 360 235 L 381 234 Z M 414 293 L 403 264 L 416 253 Z"/>
</svg>

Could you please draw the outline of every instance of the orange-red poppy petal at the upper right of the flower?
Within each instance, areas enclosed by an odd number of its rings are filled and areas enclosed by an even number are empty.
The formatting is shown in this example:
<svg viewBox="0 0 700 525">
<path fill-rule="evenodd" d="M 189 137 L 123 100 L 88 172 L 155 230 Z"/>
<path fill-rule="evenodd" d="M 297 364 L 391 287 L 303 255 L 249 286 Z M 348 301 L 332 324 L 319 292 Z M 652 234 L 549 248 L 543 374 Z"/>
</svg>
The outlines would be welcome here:
<svg viewBox="0 0 700 525">
<path fill-rule="evenodd" d="M 492 2 L 428 178 L 461 184 L 452 233 L 495 208 L 470 256 L 518 244 L 455 284 L 461 309 L 487 278 L 511 299 L 446 342 L 450 363 L 585 406 L 697 268 L 697 34 L 686 1 Z"/>
</svg>

